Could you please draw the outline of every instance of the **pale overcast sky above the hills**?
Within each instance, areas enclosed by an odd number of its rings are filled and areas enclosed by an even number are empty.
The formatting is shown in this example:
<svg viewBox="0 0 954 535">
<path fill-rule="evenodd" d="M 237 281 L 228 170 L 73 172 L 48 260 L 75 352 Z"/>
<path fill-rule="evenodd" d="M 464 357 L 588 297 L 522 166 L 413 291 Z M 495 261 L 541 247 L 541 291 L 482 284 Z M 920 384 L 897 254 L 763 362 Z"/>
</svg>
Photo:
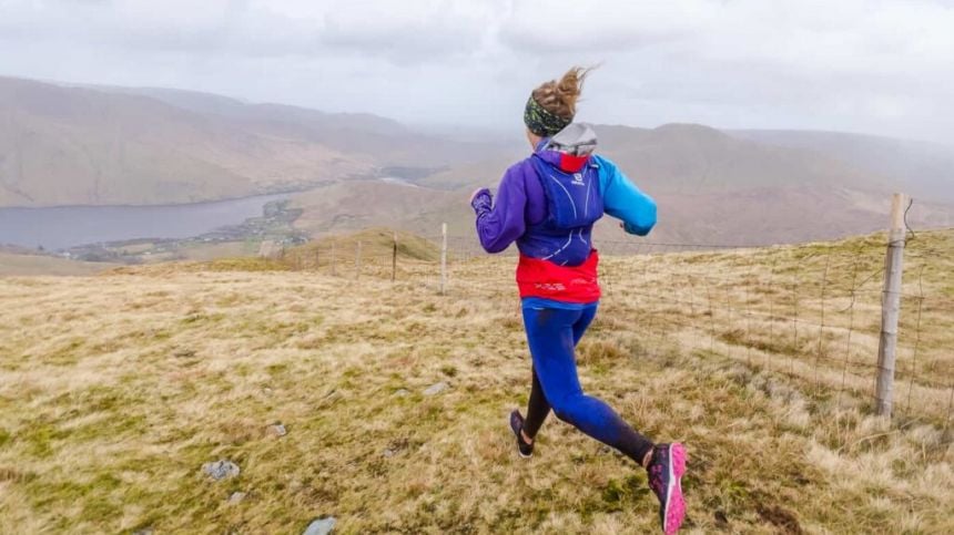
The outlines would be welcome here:
<svg viewBox="0 0 954 535">
<path fill-rule="evenodd" d="M 954 0 L 0 0 L 0 74 L 182 88 L 412 124 L 578 119 L 954 136 Z"/>
</svg>

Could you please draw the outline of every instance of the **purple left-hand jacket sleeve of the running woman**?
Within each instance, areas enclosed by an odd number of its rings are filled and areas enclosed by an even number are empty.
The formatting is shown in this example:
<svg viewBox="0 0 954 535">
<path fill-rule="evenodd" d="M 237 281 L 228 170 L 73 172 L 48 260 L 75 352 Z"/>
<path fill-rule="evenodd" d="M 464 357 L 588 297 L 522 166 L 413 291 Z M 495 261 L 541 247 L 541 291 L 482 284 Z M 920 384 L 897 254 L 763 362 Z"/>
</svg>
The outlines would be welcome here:
<svg viewBox="0 0 954 535">
<path fill-rule="evenodd" d="M 477 236 L 487 253 L 500 253 L 524 235 L 527 192 L 519 165 L 507 169 L 497 189 L 497 199 L 481 189 L 470 203 L 477 214 Z"/>
</svg>

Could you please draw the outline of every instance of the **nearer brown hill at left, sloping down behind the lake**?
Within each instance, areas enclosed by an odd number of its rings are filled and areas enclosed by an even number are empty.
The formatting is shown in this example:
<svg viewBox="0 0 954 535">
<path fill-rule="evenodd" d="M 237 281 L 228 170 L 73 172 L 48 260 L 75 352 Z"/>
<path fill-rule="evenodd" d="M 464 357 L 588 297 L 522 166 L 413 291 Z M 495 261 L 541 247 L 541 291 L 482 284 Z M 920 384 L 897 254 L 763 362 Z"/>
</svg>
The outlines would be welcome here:
<svg viewBox="0 0 954 535">
<path fill-rule="evenodd" d="M 373 168 L 145 96 L 0 79 L 0 206 L 190 203 Z"/>
</svg>

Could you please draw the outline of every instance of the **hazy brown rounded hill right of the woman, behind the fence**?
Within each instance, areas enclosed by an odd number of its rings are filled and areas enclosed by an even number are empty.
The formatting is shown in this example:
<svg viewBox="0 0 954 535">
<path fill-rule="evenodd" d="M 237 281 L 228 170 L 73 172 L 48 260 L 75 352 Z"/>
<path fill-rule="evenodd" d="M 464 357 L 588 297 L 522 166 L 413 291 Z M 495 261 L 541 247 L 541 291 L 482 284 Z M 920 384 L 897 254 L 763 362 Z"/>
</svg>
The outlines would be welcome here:
<svg viewBox="0 0 954 535">
<path fill-rule="evenodd" d="M 664 239 L 761 245 L 870 233 L 887 224 L 891 193 L 913 193 L 891 167 L 857 166 L 834 152 L 701 125 L 597 130 L 601 152 L 658 197 Z M 936 197 L 919 199 L 910 216 L 915 226 L 954 224 L 952 203 Z"/>
</svg>

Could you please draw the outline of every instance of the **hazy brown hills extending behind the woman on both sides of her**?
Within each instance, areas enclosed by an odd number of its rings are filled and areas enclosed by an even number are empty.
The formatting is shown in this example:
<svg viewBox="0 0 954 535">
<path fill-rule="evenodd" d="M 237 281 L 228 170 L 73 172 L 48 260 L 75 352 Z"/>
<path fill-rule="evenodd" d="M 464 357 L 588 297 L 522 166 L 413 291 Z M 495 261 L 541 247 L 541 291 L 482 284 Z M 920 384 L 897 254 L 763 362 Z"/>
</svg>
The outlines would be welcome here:
<svg viewBox="0 0 954 535">
<path fill-rule="evenodd" d="M 688 124 L 658 128 L 597 125 L 599 153 L 613 160 L 659 202 L 652 240 L 762 245 L 829 239 L 884 228 L 899 179 L 801 147 L 775 146 Z M 467 198 L 496 187 L 506 168 L 529 154 L 510 147 L 415 181 L 426 187 L 339 184 L 296 197 L 298 223 L 313 234 L 392 225 L 433 235 L 439 222 L 473 233 Z M 443 194 L 434 189 L 445 189 Z M 954 225 L 954 209 L 920 199 L 915 226 Z M 603 239 L 626 236 L 607 218 Z"/>
</svg>

